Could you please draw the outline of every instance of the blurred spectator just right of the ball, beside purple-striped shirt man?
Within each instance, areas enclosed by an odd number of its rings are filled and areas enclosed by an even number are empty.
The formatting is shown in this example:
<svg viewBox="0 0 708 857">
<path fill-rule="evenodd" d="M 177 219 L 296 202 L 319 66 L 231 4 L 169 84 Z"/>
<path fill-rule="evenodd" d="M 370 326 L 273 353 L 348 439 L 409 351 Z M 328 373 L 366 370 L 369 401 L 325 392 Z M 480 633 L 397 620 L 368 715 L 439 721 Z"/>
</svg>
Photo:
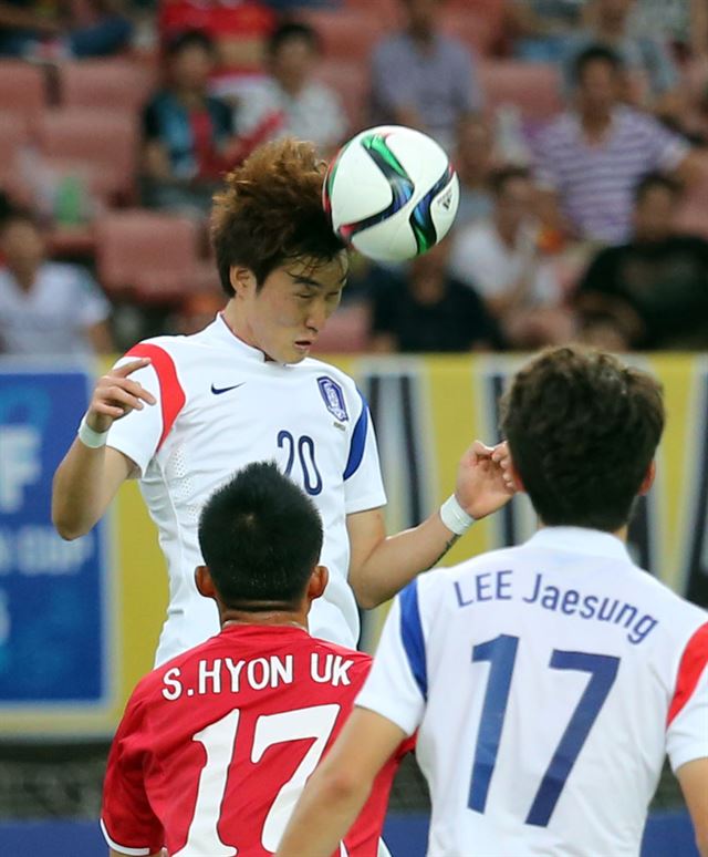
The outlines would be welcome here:
<svg viewBox="0 0 708 857">
<path fill-rule="evenodd" d="M 493 149 L 492 131 L 486 118 L 470 116 L 460 122 L 455 149 L 455 169 L 460 180 L 456 229 L 491 214 L 489 177 L 493 167 Z"/>
</svg>

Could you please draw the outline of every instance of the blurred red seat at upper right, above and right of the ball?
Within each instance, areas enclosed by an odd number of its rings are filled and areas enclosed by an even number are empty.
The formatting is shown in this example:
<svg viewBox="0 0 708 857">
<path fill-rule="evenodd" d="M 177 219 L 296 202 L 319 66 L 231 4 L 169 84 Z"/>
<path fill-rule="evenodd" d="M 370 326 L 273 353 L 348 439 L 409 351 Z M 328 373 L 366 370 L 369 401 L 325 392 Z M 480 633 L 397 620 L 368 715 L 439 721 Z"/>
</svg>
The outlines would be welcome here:
<svg viewBox="0 0 708 857">
<path fill-rule="evenodd" d="M 548 120 L 563 109 L 558 70 L 543 63 L 485 60 L 479 63 L 487 105 L 513 104 L 527 120 Z"/>
</svg>

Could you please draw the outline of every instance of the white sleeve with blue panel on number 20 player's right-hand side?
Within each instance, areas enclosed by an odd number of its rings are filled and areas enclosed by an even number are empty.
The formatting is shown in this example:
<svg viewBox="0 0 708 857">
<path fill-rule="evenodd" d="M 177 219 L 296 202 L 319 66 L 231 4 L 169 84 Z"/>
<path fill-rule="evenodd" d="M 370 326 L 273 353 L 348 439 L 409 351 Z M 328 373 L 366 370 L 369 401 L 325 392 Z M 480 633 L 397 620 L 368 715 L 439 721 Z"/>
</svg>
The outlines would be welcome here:
<svg viewBox="0 0 708 857">
<path fill-rule="evenodd" d="M 352 431 L 344 468 L 344 508 L 347 515 L 386 505 L 374 425 L 368 404 L 361 393 L 360 399 L 361 411 Z"/>
</svg>

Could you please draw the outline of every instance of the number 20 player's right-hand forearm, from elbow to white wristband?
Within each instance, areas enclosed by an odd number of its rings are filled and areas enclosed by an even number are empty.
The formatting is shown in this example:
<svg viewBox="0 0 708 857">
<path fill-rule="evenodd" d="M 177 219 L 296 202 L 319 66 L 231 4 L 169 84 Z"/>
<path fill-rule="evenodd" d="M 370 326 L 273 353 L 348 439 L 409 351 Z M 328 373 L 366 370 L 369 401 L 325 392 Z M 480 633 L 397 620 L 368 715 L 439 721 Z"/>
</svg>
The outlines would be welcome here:
<svg viewBox="0 0 708 857">
<path fill-rule="evenodd" d="M 384 538 L 350 571 L 360 606 L 372 609 L 393 598 L 414 577 L 433 568 L 458 538 L 442 524 L 439 512 L 413 529 Z"/>
</svg>

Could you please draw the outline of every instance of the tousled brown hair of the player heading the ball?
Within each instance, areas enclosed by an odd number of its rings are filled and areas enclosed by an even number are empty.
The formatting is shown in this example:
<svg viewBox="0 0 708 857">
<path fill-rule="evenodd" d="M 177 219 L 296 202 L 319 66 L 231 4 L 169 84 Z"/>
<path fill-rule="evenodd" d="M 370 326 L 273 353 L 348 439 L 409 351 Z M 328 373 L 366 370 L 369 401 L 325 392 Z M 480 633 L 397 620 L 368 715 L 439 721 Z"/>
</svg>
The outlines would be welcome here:
<svg viewBox="0 0 708 857">
<path fill-rule="evenodd" d="M 325 166 L 312 143 L 284 138 L 260 146 L 226 177 L 215 196 L 211 240 L 229 297 L 233 265 L 250 268 L 262 286 L 288 260 L 331 261 L 344 249 L 322 206 Z"/>
</svg>

